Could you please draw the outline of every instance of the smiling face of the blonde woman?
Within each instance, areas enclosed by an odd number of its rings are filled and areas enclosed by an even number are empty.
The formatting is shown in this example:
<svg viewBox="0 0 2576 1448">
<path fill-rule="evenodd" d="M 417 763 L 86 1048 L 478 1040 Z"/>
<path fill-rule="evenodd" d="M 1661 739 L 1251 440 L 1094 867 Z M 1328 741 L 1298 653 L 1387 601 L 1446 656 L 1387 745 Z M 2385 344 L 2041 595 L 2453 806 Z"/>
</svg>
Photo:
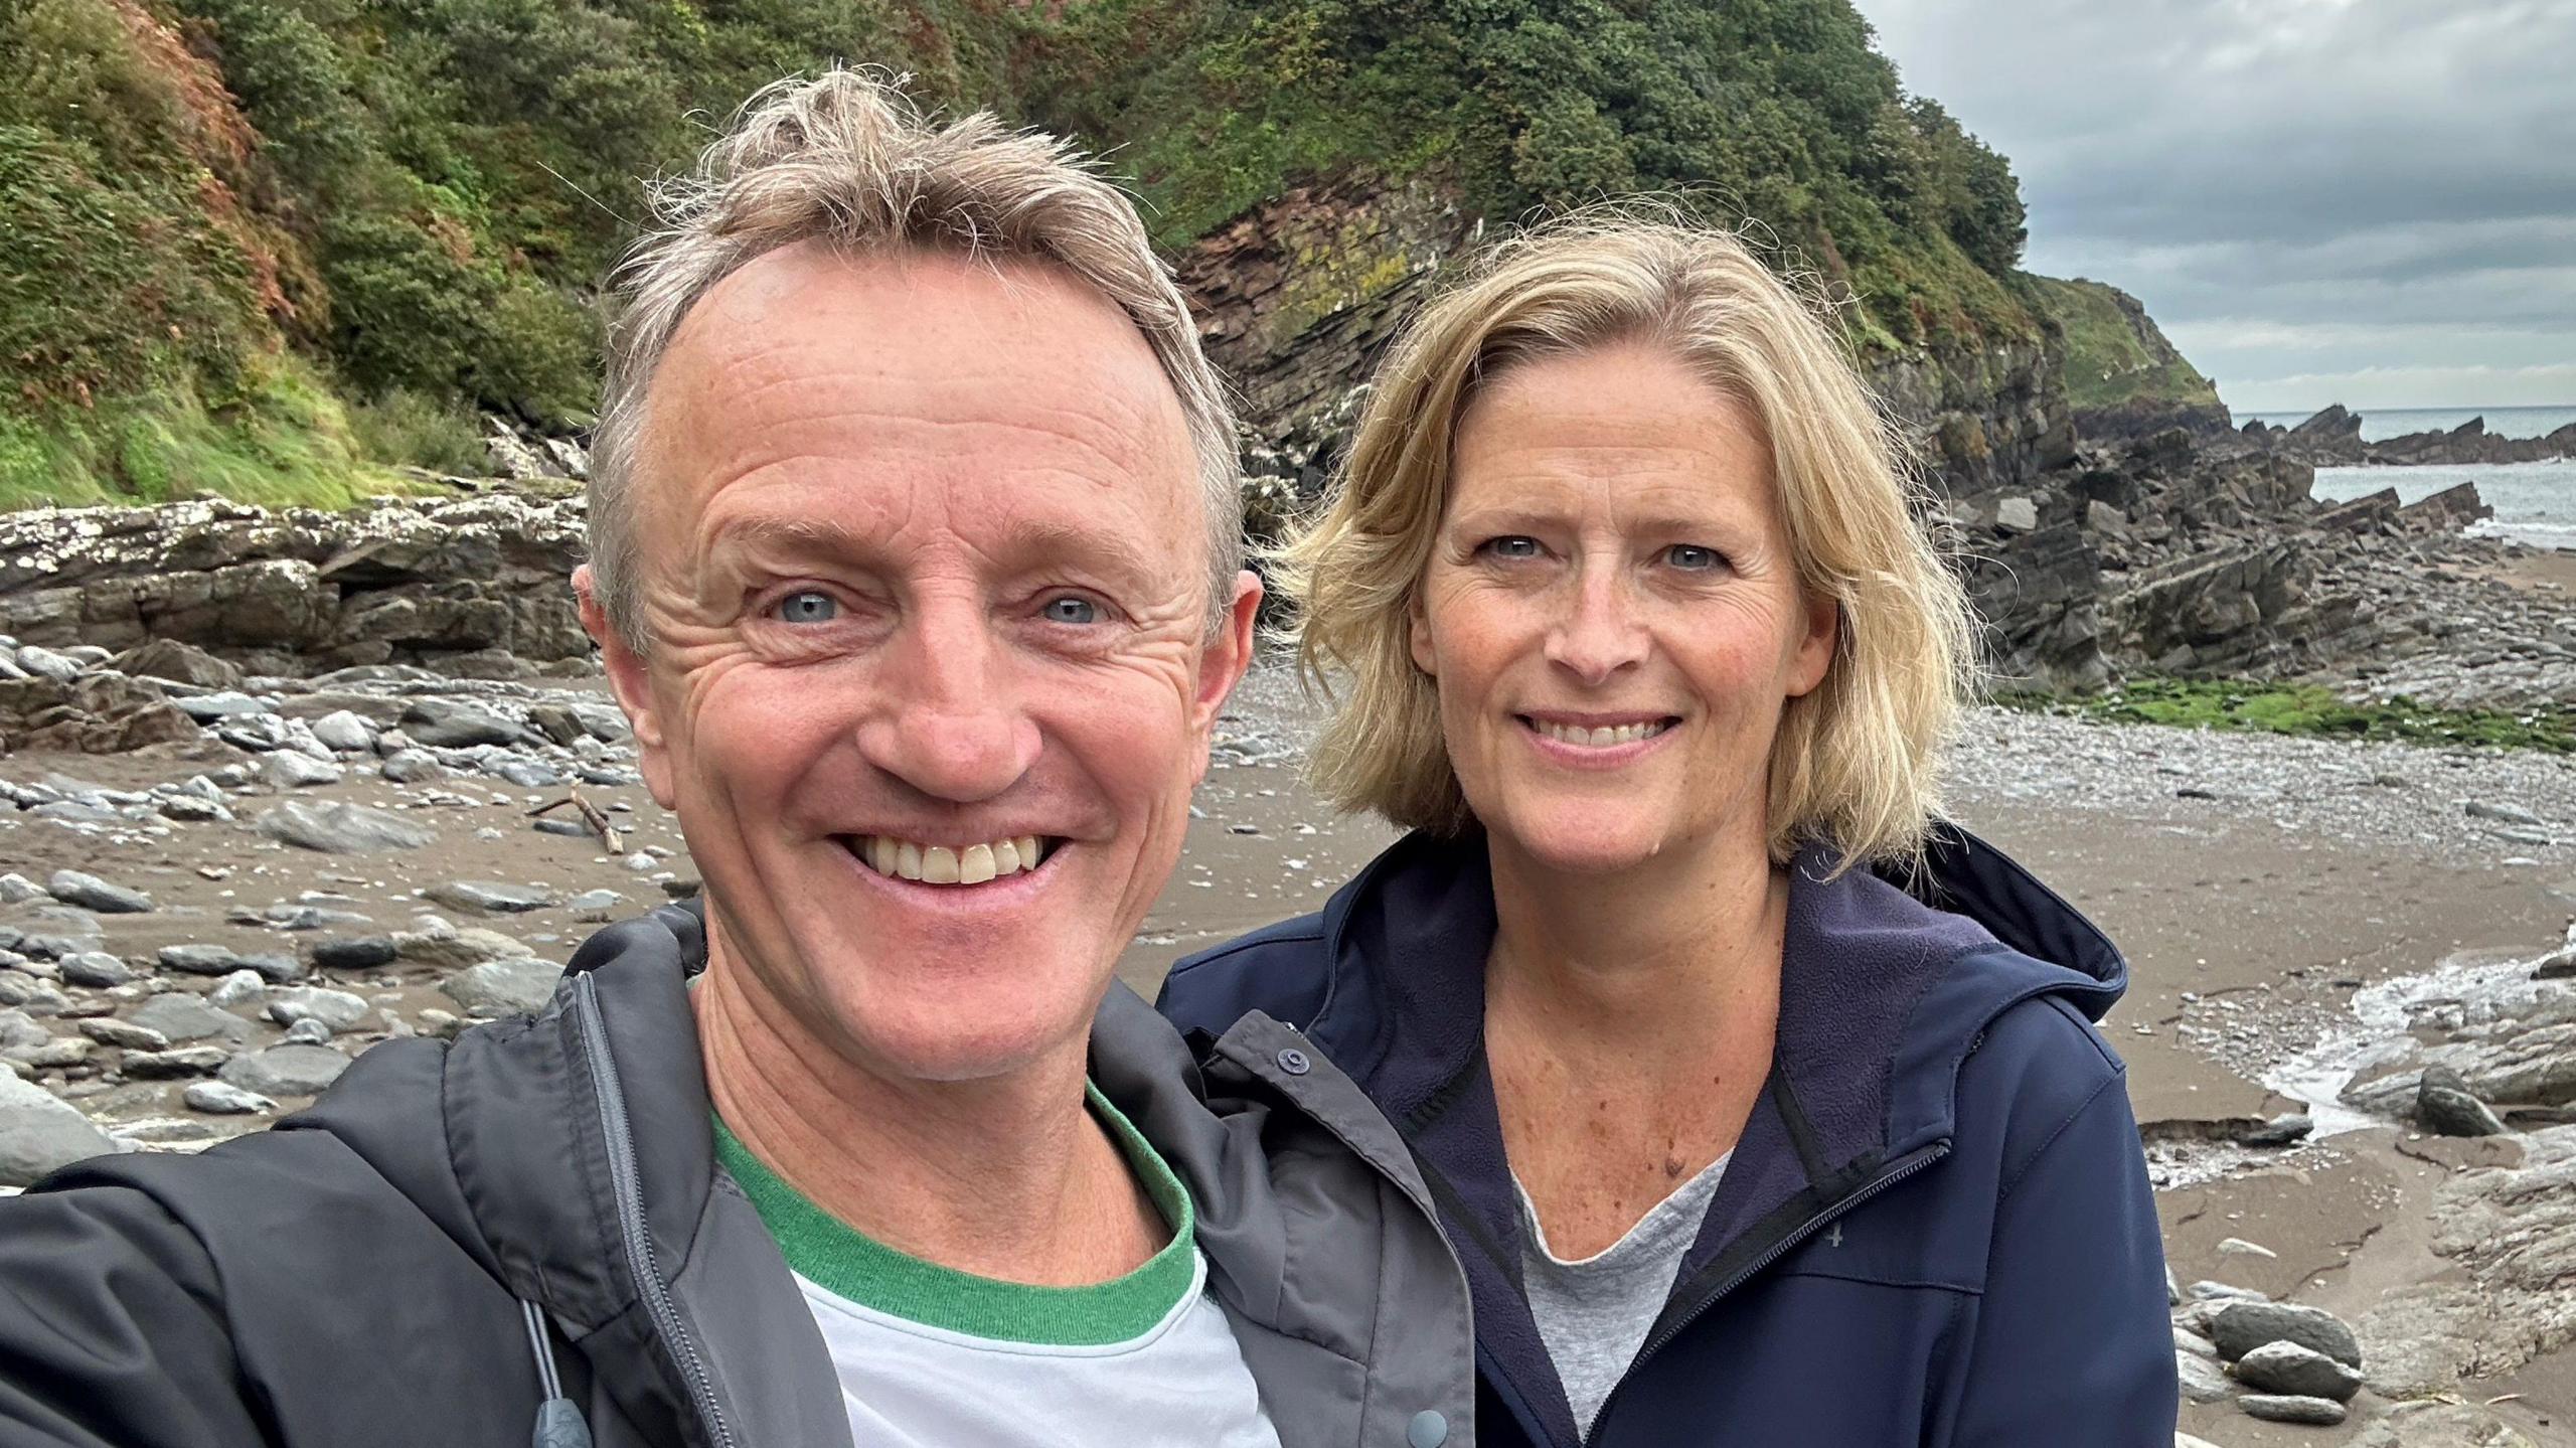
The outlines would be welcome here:
<svg viewBox="0 0 2576 1448">
<path fill-rule="evenodd" d="M 1754 415 L 1654 345 L 1515 366 L 1458 420 L 1414 600 L 1497 850 L 1564 871 L 1762 848 L 1780 711 L 1824 680 Z"/>
</svg>

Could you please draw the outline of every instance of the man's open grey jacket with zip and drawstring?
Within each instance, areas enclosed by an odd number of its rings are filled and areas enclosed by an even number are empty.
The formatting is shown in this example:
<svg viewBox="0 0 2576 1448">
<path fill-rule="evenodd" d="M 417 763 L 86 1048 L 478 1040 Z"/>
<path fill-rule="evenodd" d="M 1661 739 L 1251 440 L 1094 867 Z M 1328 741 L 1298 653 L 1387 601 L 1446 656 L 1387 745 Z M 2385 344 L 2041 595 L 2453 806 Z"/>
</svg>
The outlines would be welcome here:
<svg viewBox="0 0 2576 1448">
<path fill-rule="evenodd" d="M 0 1201 L 0 1448 L 556 1448 L 572 1415 L 598 1448 L 850 1445 L 714 1159 L 703 958 L 701 917 L 657 910 L 536 1018 L 381 1043 L 273 1131 Z M 1265 1015 L 1200 1043 L 1113 987 L 1092 1080 L 1195 1193 L 1283 1445 L 1468 1448 L 1466 1278 L 1404 1141 Z"/>
</svg>

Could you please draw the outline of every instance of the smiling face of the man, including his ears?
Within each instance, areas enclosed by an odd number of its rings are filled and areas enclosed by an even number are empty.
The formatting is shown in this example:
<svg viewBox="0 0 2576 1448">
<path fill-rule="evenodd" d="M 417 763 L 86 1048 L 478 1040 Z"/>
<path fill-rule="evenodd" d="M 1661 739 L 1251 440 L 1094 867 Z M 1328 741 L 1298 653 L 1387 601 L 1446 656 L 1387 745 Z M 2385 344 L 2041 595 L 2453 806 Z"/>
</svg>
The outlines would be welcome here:
<svg viewBox="0 0 2576 1448">
<path fill-rule="evenodd" d="M 587 587 L 585 618 L 711 969 L 886 1077 L 1079 1043 L 1260 600 L 1242 575 L 1208 634 L 1188 423 L 1136 327 L 1038 263 L 770 252 L 665 356 L 634 508 L 649 657 Z"/>
</svg>

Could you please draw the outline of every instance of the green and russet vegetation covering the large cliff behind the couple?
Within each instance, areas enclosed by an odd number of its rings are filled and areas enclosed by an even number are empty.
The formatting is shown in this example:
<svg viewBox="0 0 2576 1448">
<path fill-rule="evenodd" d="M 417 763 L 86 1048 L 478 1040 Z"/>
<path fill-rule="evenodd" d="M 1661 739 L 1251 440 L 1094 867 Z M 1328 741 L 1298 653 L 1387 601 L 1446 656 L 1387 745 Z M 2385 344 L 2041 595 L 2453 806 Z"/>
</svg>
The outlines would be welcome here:
<svg viewBox="0 0 2576 1448">
<path fill-rule="evenodd" d="M 639 178 L 829 62 L 1108 149 L 1175 247 L 1355 173 L 1677 191 L 1862 348 L 2038 330 L 2009 165 L 1850 0 L 10 0 L 0 502 L 335 500 L 474 407 L 580 425 Z"/>
</svg>

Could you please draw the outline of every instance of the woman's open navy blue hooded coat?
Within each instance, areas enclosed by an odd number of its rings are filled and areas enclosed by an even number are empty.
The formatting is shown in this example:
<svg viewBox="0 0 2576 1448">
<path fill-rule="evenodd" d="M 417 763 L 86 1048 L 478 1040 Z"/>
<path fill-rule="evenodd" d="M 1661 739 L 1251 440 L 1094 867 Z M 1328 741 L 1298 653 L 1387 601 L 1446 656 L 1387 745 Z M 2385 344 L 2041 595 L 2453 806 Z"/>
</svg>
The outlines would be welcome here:
<svg viewBox="0 0 2576 1448">
<path fill-rule="evenodd" d="M 1484 1448 L 2169 1448 L 2164 1247 L 2120 1059 L 2128 966 L 1991 845 L 1911 886 L 1790 876 L 1775 1064 L 1592 1438 L 1520 1291 L 1484 1064 L 1481 837 L 1414 835 L 1172 969 L 1162 1010 L 1301 1025 L 1406 1136 L 1476 1301 Z"/>
</svg>

